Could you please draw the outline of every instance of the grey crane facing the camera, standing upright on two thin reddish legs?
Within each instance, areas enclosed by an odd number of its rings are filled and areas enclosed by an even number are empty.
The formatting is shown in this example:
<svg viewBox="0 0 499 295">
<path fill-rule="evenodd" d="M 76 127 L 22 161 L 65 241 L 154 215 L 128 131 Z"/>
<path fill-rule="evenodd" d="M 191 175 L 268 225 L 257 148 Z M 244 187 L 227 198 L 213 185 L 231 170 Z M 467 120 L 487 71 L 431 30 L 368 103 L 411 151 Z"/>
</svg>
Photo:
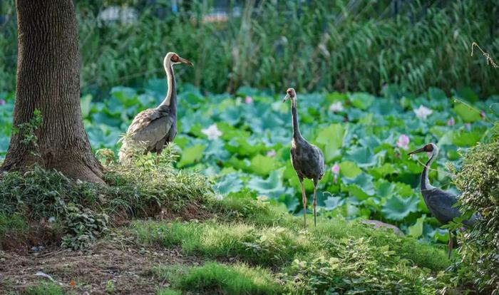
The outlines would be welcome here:
<svg viewBox="0 0 499 295">
<path fill-rule="evenodd" d="M 297 92 L 293 88 L 286 90 L 286 96 L 282 100 L 291 100 L 291 115 L 293 123 L 293 138 L 291 141 L 291 162 L 297 172 L 299 184 L 302 187 L 303 201 L 303 227 L 307 228 L 307 195 L 303 187 L 303 179 L 314 181 L 314 226 L 317 225 L 317 184 L 324 176 L 324 155 L 315 145 L 307 142 L 299 132 L 297 113 Z"/>
</svg>

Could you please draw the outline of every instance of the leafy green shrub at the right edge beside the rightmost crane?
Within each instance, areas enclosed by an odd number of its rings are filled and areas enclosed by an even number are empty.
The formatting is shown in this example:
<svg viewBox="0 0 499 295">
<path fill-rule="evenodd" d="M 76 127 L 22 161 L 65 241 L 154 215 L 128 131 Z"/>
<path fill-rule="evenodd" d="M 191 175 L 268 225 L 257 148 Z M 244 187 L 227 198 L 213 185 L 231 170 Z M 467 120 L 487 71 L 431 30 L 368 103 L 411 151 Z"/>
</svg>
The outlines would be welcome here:
<svg viewBox="0 0 499 295">
<path fill-rule="evenodd" d="M 499 140 L 498 127 L 492 129 L 490 143 L 469 150 L 456 177 L 461 202 L 481 217 L 475 229 L 461 235 L 461 280 L 471 281 L 484 294 L 499 294 Z"/>
</svg>

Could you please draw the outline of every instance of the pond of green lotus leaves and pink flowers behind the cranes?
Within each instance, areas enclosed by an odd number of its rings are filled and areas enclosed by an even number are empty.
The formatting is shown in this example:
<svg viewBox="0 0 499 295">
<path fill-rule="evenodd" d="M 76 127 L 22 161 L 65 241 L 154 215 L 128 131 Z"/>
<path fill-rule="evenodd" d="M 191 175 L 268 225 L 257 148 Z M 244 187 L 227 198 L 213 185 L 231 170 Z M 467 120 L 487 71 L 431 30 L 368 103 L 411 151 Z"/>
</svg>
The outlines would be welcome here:
<svg viewBox="0 0 499 295">
<path fill-rule="evenodd" d="M 116 152 L 134 115 L 158 105 L 165 87 L 162 79 L 153 79 L 140 88 L 115 87 L 100 101 L 82 95 L 93 148 Z M 210 177 L 221 196 L 264 197 L 299 213 L 299 182 L 289 161 L 291 114 L 283 95 L 253 88 L 212 95 L 181 86 L 175 165 Z M 9 147 L 14 97 L 0 93 L 0 158 Z M 323 150 L 326 160 L 319 214 L 379 219 L 413 237 L 446 242 L 445 230 L 428 214 L 418 189 L 426 157 L 411 159 L 407 153 L 436 143 L 441 152 L 430 178 L 433 185 L 454 190 L 448 166 L 459 167 L 461 153 L 488 136 L 491 122 L 499 118 L 499 96 L 479 100 L 470 88 L 455 90 L 451 97 L 437 88 L 413 95 L 386 86 L 381 97 L 299 93 L 298 109 L 302 134 Z M 306 180 L 305 187 L 312 198 L 312 182 Z"/>
</svg>

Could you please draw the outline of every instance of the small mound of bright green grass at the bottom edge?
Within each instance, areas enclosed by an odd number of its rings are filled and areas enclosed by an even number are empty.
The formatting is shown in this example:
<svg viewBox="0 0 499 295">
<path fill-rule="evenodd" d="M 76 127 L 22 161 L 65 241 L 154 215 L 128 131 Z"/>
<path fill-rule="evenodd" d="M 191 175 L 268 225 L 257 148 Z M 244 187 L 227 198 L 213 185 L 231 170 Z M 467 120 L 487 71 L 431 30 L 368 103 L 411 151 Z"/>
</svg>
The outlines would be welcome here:
<svg viewBox="0 0 499 295">
<path fill-rule="evenodd" d="M 175 289 L 201 294 L 281 294 L 281 286 L 266 269 L 245 264 L 225 265 L 209 262 L 203 266 L 179 268 L 159 266 L 155 272 Z M 165 293 L 160 293 L 165 294 Z M 168 294 L 168 293 L 166 293 Z M 175 294 L 175 293 L 173 293 Z"/>
</svg>

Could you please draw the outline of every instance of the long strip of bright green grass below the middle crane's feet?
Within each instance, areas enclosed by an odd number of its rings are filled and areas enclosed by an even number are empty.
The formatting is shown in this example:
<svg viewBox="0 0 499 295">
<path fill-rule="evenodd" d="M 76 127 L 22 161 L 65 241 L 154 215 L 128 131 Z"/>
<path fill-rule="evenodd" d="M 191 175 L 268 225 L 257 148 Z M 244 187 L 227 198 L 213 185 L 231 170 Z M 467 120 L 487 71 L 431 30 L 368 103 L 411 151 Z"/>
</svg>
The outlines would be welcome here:
<svg viewBox="0 0 499 295">
<path fill-rule="evenodd" d="M 135 221 L 131 227 L 138 241 L 143 244 L 178 246 L 185 254 L 202 254 L 205 257 L 238 257 L 245 262 L 265 266 L 284 265 L 296 257 L 324 249 L 325 245 L 341 239 L 369 239 L 372 247 L 390 249 L 411 264 L 443 270 L 449 264 L 443 247 L 418 241 L 412 237 L 399 237 L 382 229 L 372 229 L 366 224 L 345 219 L 319 217 L 317 227 L 302 231 L 301 217 L 282 214 L 268 203 L 259 200 L 222 200 L 229 216 L 240 212 L 239 221 L 227 222 L 213 219 L 199 222 Z M 269 224 L 269 220 L 274 221 Z M 282 222 L 280 222 L 282 220 Z"/>
</svg>

